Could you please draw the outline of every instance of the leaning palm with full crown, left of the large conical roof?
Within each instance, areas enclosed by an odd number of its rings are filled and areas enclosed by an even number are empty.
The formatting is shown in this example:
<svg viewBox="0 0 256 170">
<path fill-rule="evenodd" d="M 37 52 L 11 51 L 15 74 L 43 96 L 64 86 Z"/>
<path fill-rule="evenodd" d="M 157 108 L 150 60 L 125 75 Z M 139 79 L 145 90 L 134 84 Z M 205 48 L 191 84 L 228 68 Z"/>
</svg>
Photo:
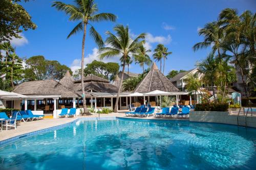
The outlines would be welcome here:
<svg viewBox="0 0 256 170">
<path fill-rule="evenodd" d="M 144 43 L 145 34 L 140 34 L 137 38 L 134 40 L 131 38 L 131 35 L 129 33 L 129 27 L 124 27 L 123 25 L 117 25 L 114 27 L 114 31 L 116 32 L 116 35 L 112 34 L 111 32 L 106 32 L 106 35 L 108 35 L 108 38 L 105 40 L 106 45 L 110 45 L 110 47 L 101 47 L 99 52 L 101 53 L 100 59 L 103 58 L 110 58 L 110 57 L 120 57 L 120 61 L 122 62 L 122 75 L 120 79 L 120 84 L 116 96 L 116 105 L 114 112 L 117 112 L 118 107 L 118 100 L 119 100 L 119 94 L 122 88 L 122 82 L 123 82 L 123 72 L 125 69 L 125 62 L 128 57 L 132 57 L 134 54 L 137 53 L 139 49 L 139 45 Z M 142 40 L 142 41 L 141 41 Z"/>
</svg>

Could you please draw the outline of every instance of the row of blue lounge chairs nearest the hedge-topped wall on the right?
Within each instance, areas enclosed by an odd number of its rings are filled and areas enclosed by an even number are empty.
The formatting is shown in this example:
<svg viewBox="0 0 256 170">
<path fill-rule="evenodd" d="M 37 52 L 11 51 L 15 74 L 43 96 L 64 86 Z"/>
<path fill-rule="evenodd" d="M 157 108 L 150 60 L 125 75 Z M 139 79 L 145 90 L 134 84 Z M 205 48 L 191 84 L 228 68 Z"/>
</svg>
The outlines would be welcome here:
<svg viewBox="0 0 256 170">
<path fill-rule="evenodd" d="M 170 110 L 170 112 L 169 112 Z M 171 109 L 169 107 L 164 107 L 162 108 L 162 112 L 161 113 L 156 113 L 156 117 L 162 117 L 162 116 L 170 116 L 170 117 L 187 117 L 189 115 L 189 111 L 190 109 L 188 107 L 183 107 L 182 111 L 179 113 L 179 107 L 172 107 Z"/>
</svg>

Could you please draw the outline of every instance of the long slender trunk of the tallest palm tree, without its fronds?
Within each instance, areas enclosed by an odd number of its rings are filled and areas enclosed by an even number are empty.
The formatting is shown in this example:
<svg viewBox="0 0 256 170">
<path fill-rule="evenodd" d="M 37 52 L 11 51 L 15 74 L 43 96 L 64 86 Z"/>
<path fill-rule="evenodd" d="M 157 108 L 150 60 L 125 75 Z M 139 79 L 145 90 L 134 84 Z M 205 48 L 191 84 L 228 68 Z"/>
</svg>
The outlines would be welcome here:
<svg viewBox="0 0 256 170">
<path fill-rule="evenodd" d="M 86 41 L 86 26 L 87 26 L 86 23 L 84 23 L 83 36 L 82 36 L 81 84 L 82 84 L 83 113 L 88 114 L 89 112 L 88 112 L 87 107 L 86 107 L 86 94 L 85 94 L 85 91 L 84 91 L 84 82 L 83 82 L 83 73 L 84 73 L 84 69 L 83 69 L 84 63 L 83 62 L 84 62 L 84 44 L 85 44 L 85 41 Z"/>
</svg>

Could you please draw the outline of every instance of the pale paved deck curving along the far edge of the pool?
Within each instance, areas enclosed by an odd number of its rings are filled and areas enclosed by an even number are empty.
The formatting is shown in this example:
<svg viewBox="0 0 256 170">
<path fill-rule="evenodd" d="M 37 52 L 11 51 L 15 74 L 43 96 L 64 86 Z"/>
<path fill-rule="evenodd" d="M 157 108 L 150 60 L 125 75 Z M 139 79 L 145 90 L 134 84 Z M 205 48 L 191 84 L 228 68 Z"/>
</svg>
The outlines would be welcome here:
<svg viewBox="0 0 256 170">
<path fill-rule="evenodd" d="M 47 129 L 63 124 L 68 124 L 73 122 L 77 118 L 87 118 L 87 117 L 98 117 L 98 114 L 93 114 L 89 116 L 77 116 L 74 118 L 45 118 L 41 120 L 34 120 L 32 122 L 19 122 L 17 124 L 16 130 L 12 129 L 0 131 L 0 141 L 6 140 L 15 136 L 23 135 L 26 133 Z M 126 117 L 124 113 L 111 113 L 111 114 L 100 114 L 100 117 Z M 156 118 L 154 116 L 150 117 L 126 117 L 126 118 L 139 118 L 139 119 L 170 119 L 170 118 Z M 174 118 L 172 118 L 174 119 Z M 179 118 L 179 120 L 188 120 L 188 118 Z"/>
</svg>

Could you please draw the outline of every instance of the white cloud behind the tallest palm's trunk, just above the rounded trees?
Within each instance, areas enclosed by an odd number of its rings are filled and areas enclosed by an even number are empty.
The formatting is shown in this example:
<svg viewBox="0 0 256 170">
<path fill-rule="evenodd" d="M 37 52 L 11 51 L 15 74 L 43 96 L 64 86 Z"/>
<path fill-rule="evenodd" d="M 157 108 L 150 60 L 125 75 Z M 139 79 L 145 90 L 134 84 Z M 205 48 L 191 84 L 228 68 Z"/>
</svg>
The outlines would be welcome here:
<svg viewBox="0 0 256 170">
<path fill-rule="evenodd" d="M 100 61 L 98 55 L 98 48 L 93 48 L 92 50 L 93 52 L 91 54 L 88 54 L 86 57 L 84 57 L 84 67 L 86 67 L 86 64 L 89 64 L 91 62 L 93 62 L 93 60 L 97 60 Z M 119 58 L 118 57 L 113 57 L 113 58 L 108 58 L 108 59 L 103 59 L 101 60 L 103 62 L 119 62 Z M 70 69 L 74 72 L 77 69 L 81 68 L 81 59 L 75 59 L 71 66 Z"/>
</svg>

